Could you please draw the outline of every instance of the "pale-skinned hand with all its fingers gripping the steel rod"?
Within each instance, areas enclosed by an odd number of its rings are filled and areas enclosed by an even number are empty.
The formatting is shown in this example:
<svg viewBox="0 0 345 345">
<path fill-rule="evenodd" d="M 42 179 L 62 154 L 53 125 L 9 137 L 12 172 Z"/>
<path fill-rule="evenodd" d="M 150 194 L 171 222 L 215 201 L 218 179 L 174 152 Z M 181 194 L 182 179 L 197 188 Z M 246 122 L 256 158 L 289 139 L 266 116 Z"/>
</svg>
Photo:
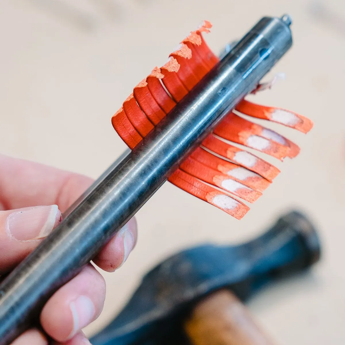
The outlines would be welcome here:
<svg viewBox="0 0 345 345">
<path fill-rule="evenodd" d="M 92 179 L 86 176 L 0 155 L 0 275 L 10 272 L 53 231 L 61 220 L 61 212 L 91 183 Z M 136 241 L 133 218 L 93 263 L 114 272 L 127 259 Z M 103 277 L 89 264 L 48 300 L 40 316 L 42 329 L 55 345 L 90 344 L 81 328 L 99 316 L 105 293 Z M 44 332 L 30 329 L 11 345 L 51 344 Z"/>
</svg>

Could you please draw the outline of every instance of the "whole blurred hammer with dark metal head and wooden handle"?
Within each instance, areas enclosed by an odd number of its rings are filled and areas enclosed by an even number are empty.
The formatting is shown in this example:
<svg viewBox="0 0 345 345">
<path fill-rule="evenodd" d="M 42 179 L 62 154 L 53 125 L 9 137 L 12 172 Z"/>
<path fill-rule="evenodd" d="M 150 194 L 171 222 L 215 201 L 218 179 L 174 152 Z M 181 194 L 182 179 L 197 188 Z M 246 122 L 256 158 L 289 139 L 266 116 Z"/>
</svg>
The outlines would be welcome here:
<svg viewBox="0 0 345 345">
<path fill-rule="evenodd" d="M 244 301 L 320 257 L 313 225 L 294 211 L 238 246 L 184 250 L 152 269 L 93 345 L 272 345 Z"/>
</svg>

